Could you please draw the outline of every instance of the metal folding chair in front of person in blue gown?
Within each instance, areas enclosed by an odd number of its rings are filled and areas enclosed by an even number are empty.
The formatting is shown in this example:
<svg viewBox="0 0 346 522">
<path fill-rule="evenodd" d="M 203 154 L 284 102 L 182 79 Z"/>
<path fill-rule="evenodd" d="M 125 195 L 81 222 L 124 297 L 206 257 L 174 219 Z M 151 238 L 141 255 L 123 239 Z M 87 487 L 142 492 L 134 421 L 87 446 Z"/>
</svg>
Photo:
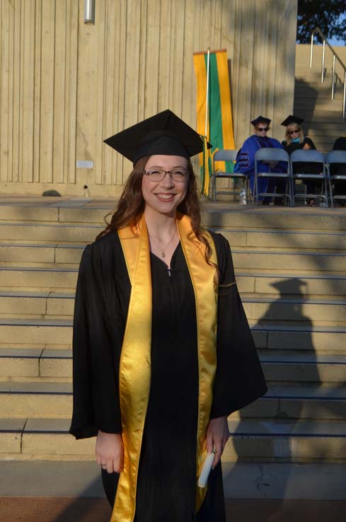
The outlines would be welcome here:
<svg viewBox="0 0 346 522">
<path fill-rule="evenodd" d="M 287 170 L 285 172 L 272 172 L 271 168 L 269 172 L 259 172 L 258 165 L 260 162 L 265 163 L 279 163 L 284 162 L 287 164 Z M 258 192 L 258 179 L 259 178 L 274 178 L 285 180 L 285 191 L 282 192 Z M 255 182 L 253 185 L 253 202 L 258 203 L 259 196 L 271 196 L 271 197 L 286 197 L 289 201 L 289 206 L 292 207 L 292 175 L 289 163 L 289 155 L 284 149 L 270 149 L 263 148 L 259 149 L 255 153 Z"/>
</svg>

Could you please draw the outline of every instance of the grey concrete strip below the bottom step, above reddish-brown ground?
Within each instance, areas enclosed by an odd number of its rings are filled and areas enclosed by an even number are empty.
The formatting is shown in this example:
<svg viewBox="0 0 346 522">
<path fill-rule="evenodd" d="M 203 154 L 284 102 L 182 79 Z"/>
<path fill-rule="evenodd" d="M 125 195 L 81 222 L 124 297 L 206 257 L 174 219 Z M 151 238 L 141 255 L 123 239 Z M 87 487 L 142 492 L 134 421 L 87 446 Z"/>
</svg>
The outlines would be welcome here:
<svg viewBox="0 0 346 522">
<path fill-rule="evenodd" d="M 345 464 L 224 463 L 223 474 L 229 500 L 342 501 L 346 506 Z M 101 499 L 100 467 L 81 461 L 2 461 L 0 497 Z"/>
</svg>

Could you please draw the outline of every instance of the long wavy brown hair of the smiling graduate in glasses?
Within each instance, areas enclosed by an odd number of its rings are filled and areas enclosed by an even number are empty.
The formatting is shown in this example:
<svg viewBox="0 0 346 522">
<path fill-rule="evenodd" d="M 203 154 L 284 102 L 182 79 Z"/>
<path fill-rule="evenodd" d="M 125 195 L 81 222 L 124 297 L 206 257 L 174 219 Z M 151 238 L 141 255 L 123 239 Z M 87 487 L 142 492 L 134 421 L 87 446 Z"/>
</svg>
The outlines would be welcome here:
<svg viewBox="0 0 346 522">
<path fill-rule="evenodd" d="M 119 228 L 131 225 L 136 226 L 144 213 L 145 202 L 142 195 L 142 175 L 150 156 L 140 158 L 134 165 L 132 173 L 127 178 L 119 203 L 114 211 L 105 216 L 105 223 L 107 226 L 105 230 L 98 234 L 97 238 L 102 238 L 110 232 L 115 232 Z M 193 172 L 192 163 L 188 160 L 188 186 L 186 188 L 186 195 L 183 201 L 178 205 L 177 211 L 180 214 L 185 214 L 191 219 L 192 231 L 195 233 L 197 239 L 205 246 L 205 260 L 208 265 L 214 266 L 210 262 L 212 256 L 212 248 L 209 241 L 203 234 L 201 226 L 201 211 L 200 203 L 198 202 L 197 183 L 195 173 Z M 112 216 L 110 222 L 107 219 Z M 217 268 L 217 267 L 216 267 Z"/>
</svg>

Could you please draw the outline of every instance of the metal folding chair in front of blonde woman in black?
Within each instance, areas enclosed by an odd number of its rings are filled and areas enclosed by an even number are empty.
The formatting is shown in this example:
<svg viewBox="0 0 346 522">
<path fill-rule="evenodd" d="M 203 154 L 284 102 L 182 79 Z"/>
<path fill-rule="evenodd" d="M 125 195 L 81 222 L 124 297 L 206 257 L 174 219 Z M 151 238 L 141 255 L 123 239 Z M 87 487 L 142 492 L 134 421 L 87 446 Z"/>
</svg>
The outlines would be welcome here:
<svg viewBox="0 0 346 522">
<path fill-rule="evenodd" d="M 329 185 L 329 191 L 331 193 L 331 187 L 330 187 L 330 179 L 328 176 L 327 169 L 325 168 L 325 158 L 323 156 L 323 153 L 320 151 L 315 151 L 313 149 L 309 149 L 308 151 L 304 149 L 299 149 L 297 151 L 293 151 L 291 156 L 291 171 L 292 171 L 292 180 L 293 180 L 293 199 L 295 201 L 296 198 L 302 198 L 302 199 L 324 199 L 325 204 L 328 207 L 328 185 Z M 321 174 L 311 174 L 311 173 L 294 173 L 294 165 L 295 163 L 306 163 L 308 165 L 311 165 L 312 163 L 321 163 Z M 321 191 L 319 194 L 308 194 L 305 192 L 304 194 L 296 194 L 295 191 L 295 182 L 296 180 L 318 180 L 321 181 Z M 333 206 L 333 201 L 332 201 Z"/>
</svg>

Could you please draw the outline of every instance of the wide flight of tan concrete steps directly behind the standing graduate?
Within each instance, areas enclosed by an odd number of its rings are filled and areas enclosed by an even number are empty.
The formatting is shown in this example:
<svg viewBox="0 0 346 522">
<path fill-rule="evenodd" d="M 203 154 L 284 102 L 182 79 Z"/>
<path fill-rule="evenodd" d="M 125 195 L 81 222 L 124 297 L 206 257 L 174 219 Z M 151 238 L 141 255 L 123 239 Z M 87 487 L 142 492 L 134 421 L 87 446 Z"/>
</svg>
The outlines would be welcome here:
<svg viewBox="0 0 346 522">
<path fill-rule="evenodd" d="M 111 204 L 23 201 L 0 204 L 0 460 L 93 460 L 68 434 L 72 313 Z M 203 220 L 231 243 L 269 384 L 229 419 L 225 463 L 345 463 L 345 211 L 204 204 Z"/>
</svg>

